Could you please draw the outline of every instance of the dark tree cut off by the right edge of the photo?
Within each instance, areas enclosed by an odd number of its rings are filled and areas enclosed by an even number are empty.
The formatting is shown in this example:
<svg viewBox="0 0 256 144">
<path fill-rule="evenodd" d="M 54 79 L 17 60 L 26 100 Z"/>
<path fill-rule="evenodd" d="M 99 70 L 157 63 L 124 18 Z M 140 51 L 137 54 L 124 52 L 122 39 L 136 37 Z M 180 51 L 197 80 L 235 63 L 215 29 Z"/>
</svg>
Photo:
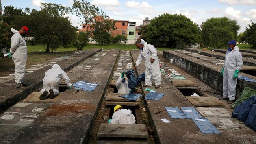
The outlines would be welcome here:
<svg viewBox="0 0 256 144">
<path fill-rule="evenodd" d="M 240 42 L 247 42 L 250 46 L 253 46 L 253 48 L 256 49 L 256 23 L 252 22 L 251 25 L 248 25 Z"/>
</svg>

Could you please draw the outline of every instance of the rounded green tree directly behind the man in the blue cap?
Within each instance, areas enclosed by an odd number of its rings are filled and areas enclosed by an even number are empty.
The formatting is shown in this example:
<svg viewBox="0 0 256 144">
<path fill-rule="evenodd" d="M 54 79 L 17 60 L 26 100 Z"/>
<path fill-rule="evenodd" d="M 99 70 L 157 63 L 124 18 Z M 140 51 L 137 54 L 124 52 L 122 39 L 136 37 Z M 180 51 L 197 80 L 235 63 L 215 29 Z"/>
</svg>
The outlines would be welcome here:
<svg viewBox="0 0 256 144">
<path fill-rule="evenodd" d="M 226 42 L 237 39 L 239 28 L 236 20 L 227 17 L 210 18 L 201 25 L 202 43 L 211 48 L 226 46 Z"/>
</svg>

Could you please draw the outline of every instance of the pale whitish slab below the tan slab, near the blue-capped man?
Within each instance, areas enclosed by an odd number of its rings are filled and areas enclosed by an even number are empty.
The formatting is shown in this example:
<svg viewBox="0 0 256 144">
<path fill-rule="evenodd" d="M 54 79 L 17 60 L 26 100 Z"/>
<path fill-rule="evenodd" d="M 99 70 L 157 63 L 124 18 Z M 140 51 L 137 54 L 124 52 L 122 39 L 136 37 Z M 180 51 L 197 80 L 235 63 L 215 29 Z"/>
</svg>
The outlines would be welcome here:
<svg viewBox="0 0 256 144">
<path fill-rule="evenodd" d="M 232 111 L 223 107 L 196 107 L 204 117 L 227 117 L 230 118 Z"/>
</svg>

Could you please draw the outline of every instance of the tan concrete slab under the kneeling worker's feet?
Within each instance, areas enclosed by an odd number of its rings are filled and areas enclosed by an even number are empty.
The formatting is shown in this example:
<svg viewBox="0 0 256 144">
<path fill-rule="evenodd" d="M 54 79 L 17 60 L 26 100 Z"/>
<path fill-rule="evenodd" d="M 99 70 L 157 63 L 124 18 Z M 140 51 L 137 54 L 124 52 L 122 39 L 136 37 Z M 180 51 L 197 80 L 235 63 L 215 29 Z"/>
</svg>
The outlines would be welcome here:
<svg viewBox="0 0 256 144">
<path fill-rule="evenodd" d="M 60 92 L 57 96 L 55 96 L 53 99 L 46 98 L 45 100 L 40 100 L 39 96 L 41 95 L 40 92 L 32 92 L 30 95 L 28 95 L 27 98 L 23 100 L 23 102 L 37 102 L 37 103 L 54 103 L 56 102 L 62 95 L 63 92 Z"/>
</svg>

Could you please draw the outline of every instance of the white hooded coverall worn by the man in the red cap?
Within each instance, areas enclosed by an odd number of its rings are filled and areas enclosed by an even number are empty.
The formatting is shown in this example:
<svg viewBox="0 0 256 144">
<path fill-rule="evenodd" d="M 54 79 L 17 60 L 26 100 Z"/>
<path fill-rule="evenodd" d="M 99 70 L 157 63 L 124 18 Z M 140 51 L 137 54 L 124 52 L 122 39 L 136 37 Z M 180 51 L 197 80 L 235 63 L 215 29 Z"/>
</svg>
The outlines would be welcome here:
<svg viewBox="0 0 256 144">
<path fill-rule="evenodd" d="M 25 77 L 25 69 L 27 62 L 27 44 L 25 39 L 20 35 L 19 31 L 11 28 L 13 36 L 11 37 L 10 53 L 13 59 L 15 69 L 14 76 L 16 83 L 22 83 Z"/>
</svg>

